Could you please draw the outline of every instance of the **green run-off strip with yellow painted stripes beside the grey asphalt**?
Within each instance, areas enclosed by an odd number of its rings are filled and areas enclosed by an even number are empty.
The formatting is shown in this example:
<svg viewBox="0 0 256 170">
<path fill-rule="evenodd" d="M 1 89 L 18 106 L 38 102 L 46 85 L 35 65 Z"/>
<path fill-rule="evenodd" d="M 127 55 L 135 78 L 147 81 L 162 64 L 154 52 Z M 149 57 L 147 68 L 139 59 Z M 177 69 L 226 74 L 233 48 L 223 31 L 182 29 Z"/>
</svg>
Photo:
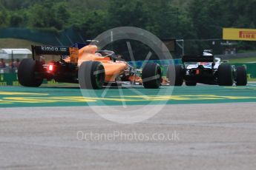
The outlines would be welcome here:
<svg viewBox="0 0 256 170">
<path fill-rule="evenodd" d="M 170 93 L 168 92 L 170 89 Z M 165 90 L 165 92 L 161 92 Z M 118 106 L 183 103 L 256 102 L 256 84 L 248 86 L 162 86 L 85 90 L 63 87 L 0 87 L 0 107 Z"/>
</svg>

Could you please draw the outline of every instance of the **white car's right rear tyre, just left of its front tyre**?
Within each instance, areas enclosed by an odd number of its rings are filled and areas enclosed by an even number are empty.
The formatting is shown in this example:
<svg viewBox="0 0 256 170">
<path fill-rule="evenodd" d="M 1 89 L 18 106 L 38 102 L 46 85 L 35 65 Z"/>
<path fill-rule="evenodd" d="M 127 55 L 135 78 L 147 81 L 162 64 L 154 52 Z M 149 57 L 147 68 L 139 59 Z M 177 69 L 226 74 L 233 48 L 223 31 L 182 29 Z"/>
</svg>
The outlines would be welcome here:
<svg viewBox="0 0 256 170">
<path fill-rule="evenodd" d="M 230 64 L 221 64 L 218 68 L 217 84 L 220 86 L 232 86 L 233 70 Z"/>
</svg>

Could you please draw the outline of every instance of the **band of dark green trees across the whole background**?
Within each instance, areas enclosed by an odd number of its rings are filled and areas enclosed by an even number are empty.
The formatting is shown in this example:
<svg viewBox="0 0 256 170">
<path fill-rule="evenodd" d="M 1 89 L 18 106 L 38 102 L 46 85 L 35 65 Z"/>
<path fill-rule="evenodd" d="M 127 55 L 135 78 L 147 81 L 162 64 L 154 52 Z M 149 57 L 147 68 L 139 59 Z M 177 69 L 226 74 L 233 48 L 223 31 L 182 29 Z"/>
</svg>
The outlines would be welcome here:
<svg viewBox="0 0 256 170">
<path fill-rule="evenodd" d="M 0 27 L 73 27 L 93 38 L 133 26 L 160 38 L 221 38 L 223 27 L 255 28 L 255 9 L 255 0 L 0 0 Z"/>
</svg>

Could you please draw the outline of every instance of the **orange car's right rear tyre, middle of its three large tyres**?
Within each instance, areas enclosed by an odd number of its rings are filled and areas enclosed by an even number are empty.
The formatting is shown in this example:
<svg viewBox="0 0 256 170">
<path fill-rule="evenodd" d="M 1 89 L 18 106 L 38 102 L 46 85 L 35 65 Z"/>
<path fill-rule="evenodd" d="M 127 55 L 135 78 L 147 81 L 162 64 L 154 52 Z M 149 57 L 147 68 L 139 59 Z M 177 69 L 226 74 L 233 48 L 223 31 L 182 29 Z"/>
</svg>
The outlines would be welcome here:
<svg viewBox="0 0 256 170">
<path fill-rule="evenodd" d="M 79 67 L 78 80 L 81 89 L 102 89 L 105 69 L 99 61 L 85 61 Z"/>
</svg>

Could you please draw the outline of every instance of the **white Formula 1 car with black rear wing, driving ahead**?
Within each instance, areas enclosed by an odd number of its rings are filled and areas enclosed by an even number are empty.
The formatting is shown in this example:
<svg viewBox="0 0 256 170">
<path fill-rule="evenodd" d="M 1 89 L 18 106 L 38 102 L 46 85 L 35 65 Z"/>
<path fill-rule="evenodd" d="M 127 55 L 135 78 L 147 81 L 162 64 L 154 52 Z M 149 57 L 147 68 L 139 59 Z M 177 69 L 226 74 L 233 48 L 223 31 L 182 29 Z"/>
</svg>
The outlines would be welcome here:
<svg viewBox="0 0 256 170">
<path fill-rule="evenodd" d="M 203 55 L 185 55 L 182 65 L 169 66 L 168 70 L 175 69 L 175 80 L 170 80 L 173 86 L 182 86 L 183 81 L 187 86 L 200 84 L 214 84 L 220 86 L 246 86 L 246 67 L 235 67 L 227 62 L 221 62 L 209 51 Z M 175 68 L 173 68 L 175 67 Z M 167 78 L 171 75 L 168 71 Z"/>
</svg>

